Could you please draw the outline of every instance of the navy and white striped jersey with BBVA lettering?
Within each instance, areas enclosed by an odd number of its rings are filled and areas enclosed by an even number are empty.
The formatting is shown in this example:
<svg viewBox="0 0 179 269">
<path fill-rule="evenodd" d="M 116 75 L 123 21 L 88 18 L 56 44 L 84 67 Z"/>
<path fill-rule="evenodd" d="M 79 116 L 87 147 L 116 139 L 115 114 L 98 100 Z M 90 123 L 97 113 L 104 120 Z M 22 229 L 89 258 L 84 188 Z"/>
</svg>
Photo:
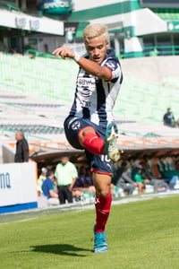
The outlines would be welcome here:
<svg viewBox="0 0 179 269">
<path fill-rule="evenodd" d="M 82 117 L 98 126 L 106 127 L 114 120 L 113 108 L 123 81 L 123 74 L 119 60 L 112 49 L 107 49 L 107 56 L 101 66 L 110 69 L 109 81 L 88 74 L 80 68 L 70 116 Z"/>
</svg>

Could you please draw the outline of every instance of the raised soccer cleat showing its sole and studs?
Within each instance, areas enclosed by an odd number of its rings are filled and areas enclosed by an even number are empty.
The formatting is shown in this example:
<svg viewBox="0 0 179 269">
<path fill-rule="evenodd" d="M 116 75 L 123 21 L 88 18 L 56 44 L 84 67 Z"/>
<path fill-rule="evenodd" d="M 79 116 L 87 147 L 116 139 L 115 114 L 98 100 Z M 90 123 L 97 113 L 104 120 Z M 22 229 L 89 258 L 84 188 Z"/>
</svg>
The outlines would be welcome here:
<svg viewBox="0 0 179 269">
<path fill-rule="evenodd" d="M 105 154 L 111 161 L 119 161 L 121 158 L 120 152 L 117 149 L 117 137 L 118 137 L 118 130 L 115 122 L 111 122 L 107 126 L 106 131 L 106 143 L 105 143 Z"/>
</svg>

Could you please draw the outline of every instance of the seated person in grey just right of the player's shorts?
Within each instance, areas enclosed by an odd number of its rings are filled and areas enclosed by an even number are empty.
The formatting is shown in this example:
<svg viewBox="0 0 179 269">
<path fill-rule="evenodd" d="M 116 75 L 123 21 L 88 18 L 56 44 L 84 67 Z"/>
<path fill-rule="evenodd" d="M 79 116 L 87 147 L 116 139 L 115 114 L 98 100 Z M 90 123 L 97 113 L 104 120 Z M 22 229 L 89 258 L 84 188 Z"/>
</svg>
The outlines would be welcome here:
<svg viewBox="0 0 179 269">
<path fill-rule="evenodd" d="M 124 195 L 132 195 L 135 187 L 138 186 L 138 184 L 132 180 L 131 169 L 127 166 L 125 161 L 121 164 L 121 175 L 116 182 L 116 186 L 123 188 Z"/>
</svg>

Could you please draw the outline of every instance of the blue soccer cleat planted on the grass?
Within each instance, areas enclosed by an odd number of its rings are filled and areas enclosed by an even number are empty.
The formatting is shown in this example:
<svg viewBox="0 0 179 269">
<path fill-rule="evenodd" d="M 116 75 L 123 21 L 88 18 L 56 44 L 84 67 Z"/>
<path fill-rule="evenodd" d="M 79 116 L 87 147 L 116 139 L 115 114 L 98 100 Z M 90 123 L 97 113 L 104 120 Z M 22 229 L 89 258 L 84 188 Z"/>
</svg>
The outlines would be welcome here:
<svg viewBox="0 0 179 269">
<path fill-rule="evenodd" d="M 94 242 L 94 252 L 101 253 L 107 251 L 107 239 L 105 231 L 96 232 L 94 227 L 94 235 L 95 235 L 95 242 Z"/>
</svg>

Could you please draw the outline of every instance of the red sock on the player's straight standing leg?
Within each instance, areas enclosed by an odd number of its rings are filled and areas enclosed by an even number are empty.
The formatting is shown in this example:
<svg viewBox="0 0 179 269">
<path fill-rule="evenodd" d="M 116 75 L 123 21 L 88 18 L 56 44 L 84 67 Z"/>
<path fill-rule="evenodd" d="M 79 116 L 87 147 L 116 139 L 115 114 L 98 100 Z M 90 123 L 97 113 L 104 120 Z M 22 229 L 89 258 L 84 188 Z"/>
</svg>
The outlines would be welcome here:
<svg viewBox="0 0 179 269">
<path fill-rule="evenodd" d="M 106 197 L 96 195 L 96 232 L 105 230 L 107 219 L 110 213 L 112 195 L 109 193 Z"/>
</svg>

